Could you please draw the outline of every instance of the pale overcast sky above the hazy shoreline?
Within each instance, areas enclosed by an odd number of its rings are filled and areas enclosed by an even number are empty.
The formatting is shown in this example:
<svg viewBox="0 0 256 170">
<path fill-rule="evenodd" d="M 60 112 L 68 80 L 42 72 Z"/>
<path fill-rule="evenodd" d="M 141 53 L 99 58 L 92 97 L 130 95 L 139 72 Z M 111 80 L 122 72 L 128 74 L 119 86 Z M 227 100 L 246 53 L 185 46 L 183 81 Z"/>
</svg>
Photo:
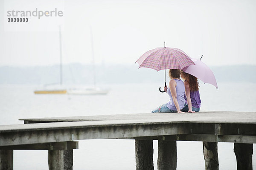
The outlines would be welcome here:
<svg viewBox="0 0 256 170">
<path fill-rule="evenodd" d="M 38 31 L 6 29 L 5 24 L 9 24 L 5 20 L 6 10 L 11 10 L 12 6 L 14 10 L 25 10 L 17 2 L 0 0 L 0 65 L 58 64 L 58 22 L 52 23 L 56 18 L 38 20 L 44 26 L 54 27 L 55 31 L 40 30 L 40 26 Z M 24 6 L 63 10 L 64 64 L 92 63 L 91 27 L 98 64 L 135 64 L 143 53 L 163 46 L 166 41 L 166 46 L 180 48 L 192 58 L 204 54 L 203 61 L 207 65 L 256 65 L 255 0 L 42 2 L 43 7 L 36 3 Z M 27 23 L 27 26 L 32 28 L 32 24 Z M 21 24 L 16 24 L 15 29 L 21 29 L 19 26 Z"/>
</svg>

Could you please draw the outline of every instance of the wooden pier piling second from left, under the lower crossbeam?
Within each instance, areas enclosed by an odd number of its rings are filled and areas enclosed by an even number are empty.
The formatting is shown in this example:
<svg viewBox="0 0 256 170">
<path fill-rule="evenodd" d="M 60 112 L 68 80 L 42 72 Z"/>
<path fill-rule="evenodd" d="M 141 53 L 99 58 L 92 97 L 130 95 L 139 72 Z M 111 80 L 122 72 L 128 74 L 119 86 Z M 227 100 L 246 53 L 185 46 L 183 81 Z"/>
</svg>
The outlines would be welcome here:
<svg viewBox="0 0 256 170">
<path fill-rule="evenodd" d="M 49 170 L 73 170 L 73 150 L 49 150 Z"/>
</svg>

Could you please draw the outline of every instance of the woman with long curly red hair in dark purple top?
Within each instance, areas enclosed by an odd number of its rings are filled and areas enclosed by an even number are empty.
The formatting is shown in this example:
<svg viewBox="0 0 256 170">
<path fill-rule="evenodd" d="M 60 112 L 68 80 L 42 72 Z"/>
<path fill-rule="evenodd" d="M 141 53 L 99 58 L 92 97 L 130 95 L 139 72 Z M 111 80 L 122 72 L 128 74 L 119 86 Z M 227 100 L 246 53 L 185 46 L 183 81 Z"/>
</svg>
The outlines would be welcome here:
<svg viewBox="0 0 256 170">
<path fill-rule="evenodd" d="M 195 76 L 181 71 L 180 77 L 184 79 L 185 85 L 185 106 L 183 112 L 199 112 L 201 107 L 201 100 L 199 94 L 198 80 Z"/>
</svg>

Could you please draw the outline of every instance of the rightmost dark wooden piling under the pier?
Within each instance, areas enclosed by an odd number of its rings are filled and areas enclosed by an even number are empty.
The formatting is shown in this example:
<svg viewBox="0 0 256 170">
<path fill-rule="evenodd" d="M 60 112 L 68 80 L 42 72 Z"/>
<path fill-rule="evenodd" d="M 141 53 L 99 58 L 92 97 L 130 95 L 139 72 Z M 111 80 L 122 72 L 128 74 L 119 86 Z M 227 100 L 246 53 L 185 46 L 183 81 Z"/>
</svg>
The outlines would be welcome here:
<svg viewBox="0 0 256 170">
<path fill-rule="evenodd" d="M 253 144 L 234 143 L 237 170 L 253 170 Z"/>
</svg>

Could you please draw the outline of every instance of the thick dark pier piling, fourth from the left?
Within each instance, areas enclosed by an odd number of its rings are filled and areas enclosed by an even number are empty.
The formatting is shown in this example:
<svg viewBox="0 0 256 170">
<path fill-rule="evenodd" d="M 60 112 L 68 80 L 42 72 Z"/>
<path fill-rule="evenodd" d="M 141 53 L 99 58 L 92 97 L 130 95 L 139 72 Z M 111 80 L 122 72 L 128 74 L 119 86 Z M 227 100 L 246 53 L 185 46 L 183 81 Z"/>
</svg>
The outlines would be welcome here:
<svg viewBox="0 0 256 170">
<path fill-rule="evenodd" d="M 176 170 L 177 143 L 176 141 L 158 140 L 158 170 Z"/>
</svg>

